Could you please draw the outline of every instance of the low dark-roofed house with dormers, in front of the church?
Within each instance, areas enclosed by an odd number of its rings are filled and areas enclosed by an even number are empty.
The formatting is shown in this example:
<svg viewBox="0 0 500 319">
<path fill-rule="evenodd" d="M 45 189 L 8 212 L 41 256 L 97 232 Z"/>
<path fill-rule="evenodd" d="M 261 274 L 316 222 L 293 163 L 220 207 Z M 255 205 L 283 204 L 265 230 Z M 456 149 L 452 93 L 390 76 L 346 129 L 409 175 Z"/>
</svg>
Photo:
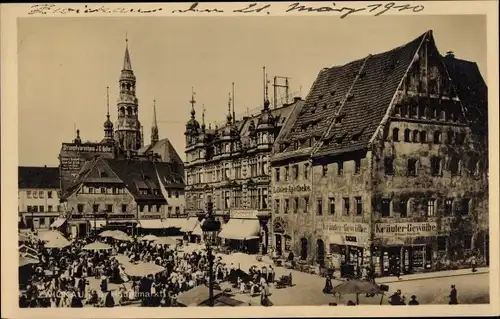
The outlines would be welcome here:
<svg viewBox="0 0 500 319">
<path fill-rule="evenodd" d="M 87 161 L 61 197 L 74 236 L 90 230 L 180 228 L 179 207 L 172 212 L 167 192 L 184 188 L 182 172 L 171 163 L 96 157 Z M 144 225 L 143 225 L 144 224 Z"/>
</svg>

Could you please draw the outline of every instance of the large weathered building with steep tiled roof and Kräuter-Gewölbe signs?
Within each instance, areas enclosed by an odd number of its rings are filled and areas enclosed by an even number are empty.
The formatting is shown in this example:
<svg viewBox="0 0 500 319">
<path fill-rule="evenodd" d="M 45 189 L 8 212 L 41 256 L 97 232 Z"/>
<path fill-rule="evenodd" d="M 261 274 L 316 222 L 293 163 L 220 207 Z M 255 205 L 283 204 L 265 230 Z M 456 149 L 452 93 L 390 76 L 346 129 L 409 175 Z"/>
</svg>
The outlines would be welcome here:
<svg viewBox="0 0 500 319">
<path fill-rule="evenodd" d="M 432 31 L 321 70 L 273 149 L 276 251 L 380 275 L 487 259 L 487 109 L 477 65 Z"/>
</svg>

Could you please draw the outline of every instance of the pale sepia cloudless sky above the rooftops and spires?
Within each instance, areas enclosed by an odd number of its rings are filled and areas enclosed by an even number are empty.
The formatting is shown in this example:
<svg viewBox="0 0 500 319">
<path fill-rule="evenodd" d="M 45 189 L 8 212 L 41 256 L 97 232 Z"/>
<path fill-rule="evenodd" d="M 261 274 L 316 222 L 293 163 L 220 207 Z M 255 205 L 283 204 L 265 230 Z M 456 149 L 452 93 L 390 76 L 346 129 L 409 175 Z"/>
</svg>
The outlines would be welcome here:
<svg viewBox="0 0 500 319">
<path fill-rule="evenodd" d="M 116 120 L 126 35 L 145 144 L 156 100 L 160 138 L 185 158 L 192 87 L 197 119 L 204 105 L 207 125 L 221 123 L 232 82 L 237 117 L 262 107 L 263 66 L 270 79 L 290 77 L 290 95 L 305 98 L 322 68 L 390 50 L 428 30 L 441 54 L 452 50 L 475 61 L 486 80 L 484 16 L 22 18 L 19 165 L 58 165 L 61 143 L 74 139 L 75 127 L 82 140 L 103 138 L 108 86 Z"/>
</svg>

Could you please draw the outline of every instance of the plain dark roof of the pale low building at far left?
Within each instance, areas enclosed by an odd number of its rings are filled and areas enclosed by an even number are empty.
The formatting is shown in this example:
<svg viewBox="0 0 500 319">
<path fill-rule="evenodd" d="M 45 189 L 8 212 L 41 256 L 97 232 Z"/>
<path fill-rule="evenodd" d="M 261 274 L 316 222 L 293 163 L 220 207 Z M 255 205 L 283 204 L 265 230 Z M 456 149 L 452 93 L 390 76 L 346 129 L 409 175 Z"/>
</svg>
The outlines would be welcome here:
<svg viewBox="0 0 500 319">
<path fill-rule="evenodd" d="M 59 189 L 59 168 L 39 166 L 18 167 L 18 187 Z"/>
</svg>

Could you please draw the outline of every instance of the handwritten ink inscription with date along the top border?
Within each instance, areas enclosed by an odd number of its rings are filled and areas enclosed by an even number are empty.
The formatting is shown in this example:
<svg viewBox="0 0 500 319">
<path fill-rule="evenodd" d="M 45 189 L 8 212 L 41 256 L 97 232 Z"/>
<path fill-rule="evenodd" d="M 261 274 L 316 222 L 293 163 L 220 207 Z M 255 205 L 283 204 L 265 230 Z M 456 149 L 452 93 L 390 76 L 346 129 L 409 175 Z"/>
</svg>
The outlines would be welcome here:
<svg viewBox="0 0 500 319">
<path fill-rule="evenodd" d="M 276 5 L 275 7 L 278 7 Z M 271 4 L 263 4 L 263 3 L 250 3 L 245 4 L 244 7 L 239 9 L 234 9 L 231 12 L 236 14 L 255 14 L 255 13 L 266 13 L 271 14 L 272 12 Z M 404 4 L 404 3 L 396 3 L 396 2 L 385 2 L 385 3 L 372 3 L 368 5 L 349 5 L 349 6 L 340 6 L 337 3 L 332 2 L 331 5 L 328 6 L 311 6 L 304 5 L 301 2 L 295 2 L 285 7 L 285 13 L 336 13 L 340 14 L 340 18 L 344 19 L 350 15 L 353 15 L 358 12 L 368 12 L 378 17 L 389 11 L 397 10 L 398 12 L 410 12 L 417 13 L 421 12 L 425 9 L 425 7 L 421 4 Z M 106 6 L 96 6 L 90 7 L 89 5 L 85 5 L 83 8 L 71 8 L 67 6 L 59 6 L 57 4 L 36 4 L 30 7 L 29 15 L 47 15 L 47 14 L 92 14 L 92 13 L 115 13 L 115 14 L 129 14 L 129 13 L 155 13 L 162 11 L 162 7 L 156 8 L 131 8 L 131 7 L 117 7 L 110 8 Z M 276 10 L 278 11 L 278 10 Z M 225 13 L 223 8 L 217 7 L 209 7 L 206 4 L 200 4 L 199 2 L 194 2 L 187 7 L 174 9 L 171 11 L 173 14 L 183 14 L 183 13 L 206 13 L 206 14 L 217 14 L 217 13 Z M 277 12 L 279 13 L 279 12 Z"/>
</svg>

